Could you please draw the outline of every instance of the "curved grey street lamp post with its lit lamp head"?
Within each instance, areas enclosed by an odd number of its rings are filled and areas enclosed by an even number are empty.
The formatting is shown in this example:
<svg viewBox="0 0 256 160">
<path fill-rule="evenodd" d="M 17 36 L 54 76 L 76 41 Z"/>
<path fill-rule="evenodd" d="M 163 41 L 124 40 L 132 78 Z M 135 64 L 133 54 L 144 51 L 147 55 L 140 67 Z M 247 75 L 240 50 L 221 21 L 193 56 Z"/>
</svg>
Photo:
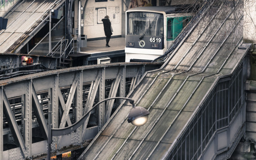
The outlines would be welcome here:
<svg viewBox="0 0 256 160">
<path fill-rule="evenodd" d="M 134 126 L 143 126 L 148 121 L 148 110 L 146 110 L 143 107 L 135 107 L 134 100 L 132 98 L 124 98 L 124 97 L 112 97 L 112 98 L 106 98 L 97 104 L 95 104 L 80 120 L 75 122 L 74 124 L 65 127 L 65 128 L 52 128 L 52 124 L 49 124 L 48 127 L 48 141 L 47 141 L 47 160 L 50 160 L 51 158 L 51 143 L 52 143 L 52 136 L 63 136 L 65 134 L 69 134 L 76 130 L 78 127 L 80 127 L 82 124 L 84 124 L 84 121 L 88 118 L 90 115 L 90 112 L 96 108 L 99 104 L 102 102 L 105 102 L 107 100 L 112 99 L 124 99 L 129 100 L 130 104 L 132 104 L 132 109 L 129 112 L 128 115 L 128 123 L 132 123 Z"/>
</svg>

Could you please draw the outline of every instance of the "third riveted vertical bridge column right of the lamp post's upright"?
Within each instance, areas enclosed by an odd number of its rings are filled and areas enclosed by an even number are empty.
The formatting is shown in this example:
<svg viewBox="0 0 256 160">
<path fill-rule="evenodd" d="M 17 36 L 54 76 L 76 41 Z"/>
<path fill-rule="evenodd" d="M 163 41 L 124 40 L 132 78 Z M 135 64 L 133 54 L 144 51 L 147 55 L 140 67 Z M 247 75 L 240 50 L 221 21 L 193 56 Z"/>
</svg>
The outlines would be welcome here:
<svg viewBox="0 0 256 160">
<path fill-rule="evenodd" d="M 99 86 L 99 102 L 105 99 L 105 68 L 102 68 L 100 70 L 100 86 Z M 105 124 L 105 103 L 101 103 L 99 105 L 99 116 L 98 116 L 98 122 L 99 122 L 99 130 L 104 126 Z"/>
</svg>

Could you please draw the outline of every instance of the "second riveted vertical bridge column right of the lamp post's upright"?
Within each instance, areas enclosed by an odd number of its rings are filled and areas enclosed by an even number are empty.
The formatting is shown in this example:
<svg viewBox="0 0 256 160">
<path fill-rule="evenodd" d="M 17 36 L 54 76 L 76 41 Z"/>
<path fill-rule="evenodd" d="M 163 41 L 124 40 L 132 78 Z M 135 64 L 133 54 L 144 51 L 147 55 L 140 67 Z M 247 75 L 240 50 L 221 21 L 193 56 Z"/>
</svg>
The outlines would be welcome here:
<svg viewBox="0 0 256 160">
<path fill-rule="evenodd" d="M 83 114 L 83 71 L 78 73 L 78 84 L 76 86 L 76 122 L 82 118 Z M 82 143 L 83 126 L 76 130 L 76 145 Z"/>
</svg>

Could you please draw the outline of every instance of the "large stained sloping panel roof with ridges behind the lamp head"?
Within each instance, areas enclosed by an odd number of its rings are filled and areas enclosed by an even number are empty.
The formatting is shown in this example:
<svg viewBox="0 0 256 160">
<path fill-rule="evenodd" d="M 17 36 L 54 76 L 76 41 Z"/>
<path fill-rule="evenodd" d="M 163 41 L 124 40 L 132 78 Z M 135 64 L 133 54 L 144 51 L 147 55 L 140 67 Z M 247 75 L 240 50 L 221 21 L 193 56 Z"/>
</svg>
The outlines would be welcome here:
<svg viewBox="0 0 256 160">
<path fill-rule="evenodd" d="M 121 104 L 80 159 L 165 159 L 216 80 L 232 74 L 250 48 L 250 44 L 241 46 L 242 2 L 234 10 L 231 3 L 208 10 L 207 18 L 194 24 L 195 29 L 161 69 L 142 77 L 128 97 L 137 106 L 150 107 L 144 126 L 128 124 L 126 116 L 132 106 Z"/>
</svg>

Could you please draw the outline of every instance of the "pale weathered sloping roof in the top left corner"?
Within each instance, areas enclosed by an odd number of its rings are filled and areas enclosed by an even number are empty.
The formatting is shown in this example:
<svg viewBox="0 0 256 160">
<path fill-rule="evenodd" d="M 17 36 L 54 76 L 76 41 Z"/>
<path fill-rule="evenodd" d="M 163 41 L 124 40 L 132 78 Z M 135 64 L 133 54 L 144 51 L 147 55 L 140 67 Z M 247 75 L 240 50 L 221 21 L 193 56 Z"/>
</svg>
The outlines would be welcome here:
<svg viewBox="0 0 256 160">
<path fill-rule="evenodd" d="M 8 18 L 8 24 L 6 30 L 0 32 L 0 52 L 11 52 L 20 45 L 27 34 L 42 22 L 40 20 L 42 16 L 48 15 L 48 10 L 58 8 L 65 0 L 61 0 L 58 4 L 56 2 L 56 0 L 22 0 L 18 2 L 4 16 L 4 18 Z"/>
</svg>

